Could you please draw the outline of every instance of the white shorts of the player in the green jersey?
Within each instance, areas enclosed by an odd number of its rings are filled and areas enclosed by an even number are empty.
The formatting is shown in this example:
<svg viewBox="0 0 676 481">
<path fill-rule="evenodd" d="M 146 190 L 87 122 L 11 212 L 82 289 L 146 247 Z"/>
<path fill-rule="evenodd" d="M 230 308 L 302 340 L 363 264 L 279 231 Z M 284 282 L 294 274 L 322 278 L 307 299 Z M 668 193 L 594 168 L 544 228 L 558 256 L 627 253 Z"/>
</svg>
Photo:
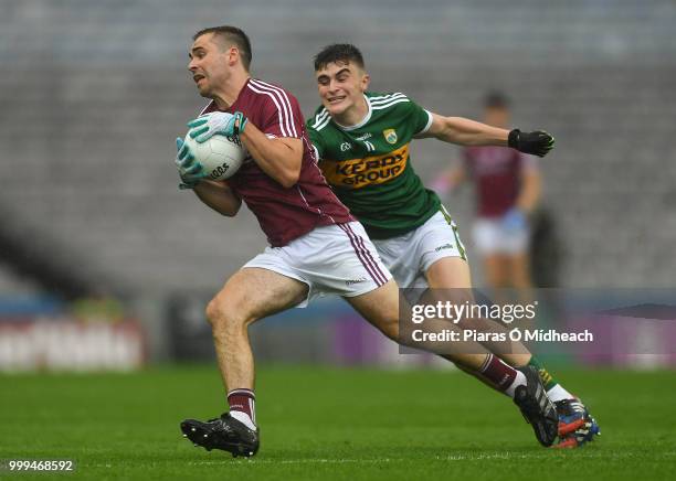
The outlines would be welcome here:
<svg viewBox="0 0 676 481">
<path fill-rule="evenodd" d="M 425 271 L 439 259 L 466 259 L 465 246 L 457 234 L 457 226 L 443 207 L 415 231 L 398 237 L 373 240 L 373 244 L 402 288 L 427 287 Z"/>
</svg>

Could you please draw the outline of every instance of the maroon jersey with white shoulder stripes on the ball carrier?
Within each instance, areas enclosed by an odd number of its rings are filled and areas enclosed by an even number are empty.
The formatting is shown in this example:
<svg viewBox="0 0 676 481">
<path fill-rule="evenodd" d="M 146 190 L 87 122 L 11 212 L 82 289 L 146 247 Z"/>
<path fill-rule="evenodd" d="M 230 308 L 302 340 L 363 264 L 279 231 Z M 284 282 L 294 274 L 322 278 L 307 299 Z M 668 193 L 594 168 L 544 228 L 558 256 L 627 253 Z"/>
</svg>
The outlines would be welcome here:
<svg viewBox="0 0 676 481">
<path fill-rule="evenodd" d="M 202 114 L 216 110 L 220 110 L 216 104 L 211 101 Z M 228 180 L 233 192 L 254 213 L 273 247 L 284 246 L 315 227 L 355 220 L 317 167 L 296 97 L 282 87 L 250 78 L 237 99 L 223 111 L 241 111 L 267 137 L 303 139 L 300 177 L 294 186 L 283 188 L 251 157 Z"/>
</svg>

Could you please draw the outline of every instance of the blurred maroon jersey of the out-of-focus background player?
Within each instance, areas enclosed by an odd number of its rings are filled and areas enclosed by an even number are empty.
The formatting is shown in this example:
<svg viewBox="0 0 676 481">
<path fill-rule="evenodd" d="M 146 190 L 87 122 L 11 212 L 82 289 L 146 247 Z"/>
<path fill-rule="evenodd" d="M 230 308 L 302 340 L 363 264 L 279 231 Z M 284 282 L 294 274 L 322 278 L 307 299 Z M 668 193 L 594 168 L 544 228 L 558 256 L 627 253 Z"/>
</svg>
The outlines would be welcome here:
<svg viewBox="0 0 676 481">
<path fill-rule="evenodd" d="M 467 147 L 465 167 L 476 183 L 477 214 L 499 217 L 514 207 L 521 188 L 521 169 L 535 160 L 506 147 Z"/>
</svg>

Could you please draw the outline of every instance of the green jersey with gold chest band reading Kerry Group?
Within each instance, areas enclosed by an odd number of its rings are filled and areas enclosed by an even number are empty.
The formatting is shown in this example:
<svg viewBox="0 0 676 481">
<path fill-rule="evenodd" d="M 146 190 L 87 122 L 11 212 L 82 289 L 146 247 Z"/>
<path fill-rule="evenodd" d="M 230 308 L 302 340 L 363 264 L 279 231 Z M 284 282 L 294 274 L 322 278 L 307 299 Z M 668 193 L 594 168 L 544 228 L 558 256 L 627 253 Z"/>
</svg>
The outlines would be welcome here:
<svg viewBox="0 0 676 481">
<path fill-rule="evenodd" d="M 358 125 L 339 126 L 320 107 L 307 130 L 328 183 L 369 236 L 382 239 L 413 231 L 440 209 L 409 156 L 432 115 L 403 94 L 367 93 L 366 99 L 369 113 Z"/>
</svg>

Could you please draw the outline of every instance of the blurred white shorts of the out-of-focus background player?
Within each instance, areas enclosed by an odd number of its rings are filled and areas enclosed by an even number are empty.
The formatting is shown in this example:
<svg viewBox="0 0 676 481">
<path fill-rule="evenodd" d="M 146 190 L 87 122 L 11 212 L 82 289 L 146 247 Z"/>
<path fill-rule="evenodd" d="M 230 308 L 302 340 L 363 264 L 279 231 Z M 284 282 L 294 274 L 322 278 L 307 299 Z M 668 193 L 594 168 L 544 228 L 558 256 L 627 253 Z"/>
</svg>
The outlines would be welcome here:
<svg viewBox="0 0 676 481">
<path fill-rule="evenodd" d="M 530 229 L 528 227 L 505 228 L 500 217 L 479 217 L 474 223 L 473 236 L 476 249 L 483 255 L 524 254 L 528 250 Z"/>
</svg>

